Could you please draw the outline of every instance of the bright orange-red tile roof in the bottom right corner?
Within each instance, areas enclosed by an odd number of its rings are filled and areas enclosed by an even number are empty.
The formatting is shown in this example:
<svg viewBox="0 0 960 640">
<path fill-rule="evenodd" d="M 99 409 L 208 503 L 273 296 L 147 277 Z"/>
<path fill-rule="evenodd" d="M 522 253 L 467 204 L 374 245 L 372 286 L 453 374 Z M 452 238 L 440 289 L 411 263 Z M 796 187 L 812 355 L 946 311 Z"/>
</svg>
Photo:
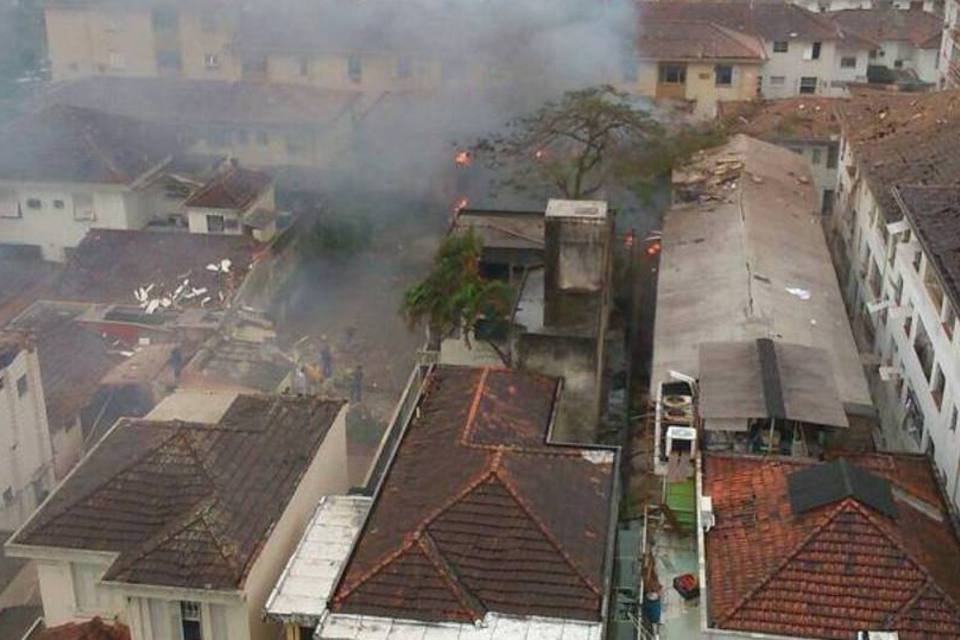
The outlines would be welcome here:
<svg viewBox="0 0 960 640">
<path fill-rule="evenodd" d="M 960 541 L 923 456 L 848 461 L 889 481 L 896 517 L 856 497 L 794 513 L 788 476 L 813 460 L 704 457 L 716 524 L 705 536 L 709 624 L 804 638 L 895 629 L 960 634 Z M 933 515 L 931 515 L 933 514 Z M 935 517 L 934 517 L 935 516 Z"/>
</svg>

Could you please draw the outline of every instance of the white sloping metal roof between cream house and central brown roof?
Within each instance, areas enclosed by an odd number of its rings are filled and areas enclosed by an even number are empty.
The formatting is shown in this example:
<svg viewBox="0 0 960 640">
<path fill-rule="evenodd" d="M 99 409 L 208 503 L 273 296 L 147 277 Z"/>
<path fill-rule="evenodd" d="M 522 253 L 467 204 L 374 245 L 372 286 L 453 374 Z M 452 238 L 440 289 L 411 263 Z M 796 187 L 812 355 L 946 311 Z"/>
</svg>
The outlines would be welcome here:
<svg viewBox="0 0 960 640">
<path fill-rule="evenodd" d="M 363 526 L 371 499 L 324 496 L 267 600 L 267 615 L 317 621 Z"/>
</svg>

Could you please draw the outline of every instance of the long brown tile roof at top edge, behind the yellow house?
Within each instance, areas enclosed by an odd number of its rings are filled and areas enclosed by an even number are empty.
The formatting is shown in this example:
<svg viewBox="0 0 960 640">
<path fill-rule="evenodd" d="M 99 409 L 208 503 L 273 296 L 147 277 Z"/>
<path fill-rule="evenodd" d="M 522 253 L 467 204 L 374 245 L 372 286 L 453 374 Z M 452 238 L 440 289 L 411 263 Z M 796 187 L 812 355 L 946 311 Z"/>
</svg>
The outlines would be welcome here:
<svg viewBox="0 0 960 640">
<path fill-rule="evenodd" d="M 772 42 L 841 40 L 843 34 L 824 17 L 787 3 L 639 2 L 640 25 L 651 19 L 706 21 Z"/>
</svg>

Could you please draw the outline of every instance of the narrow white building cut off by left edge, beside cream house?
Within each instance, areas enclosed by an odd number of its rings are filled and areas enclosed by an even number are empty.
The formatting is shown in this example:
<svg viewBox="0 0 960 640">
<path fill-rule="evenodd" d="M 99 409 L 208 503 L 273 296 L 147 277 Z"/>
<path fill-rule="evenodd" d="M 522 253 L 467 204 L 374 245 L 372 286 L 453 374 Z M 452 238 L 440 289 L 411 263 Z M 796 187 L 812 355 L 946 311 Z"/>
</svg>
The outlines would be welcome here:
<svg viewBox="0 0 960 640">
<path fill-rule="evenodd" d="M 23 334 L 0 334 L 0 530 L 22 525 L 53 484 L 37 350 Z"/>
</svg>

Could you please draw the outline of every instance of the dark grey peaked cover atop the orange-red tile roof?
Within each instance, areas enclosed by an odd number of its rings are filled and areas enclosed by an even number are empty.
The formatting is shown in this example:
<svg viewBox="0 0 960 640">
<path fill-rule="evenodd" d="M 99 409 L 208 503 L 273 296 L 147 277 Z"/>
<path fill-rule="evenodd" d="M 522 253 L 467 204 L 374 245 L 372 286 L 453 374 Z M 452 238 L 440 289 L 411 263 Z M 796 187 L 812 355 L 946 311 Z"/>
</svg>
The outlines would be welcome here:
<svg viewBox="0 0 960 640">
<path fill-rule="evenodd" d="M 794 514 L 853 498 L 886 516 L 897 517 L 890 482 L 853 466 L 844 458 L 790 474 L 787 493 Z"/>
</svg>

